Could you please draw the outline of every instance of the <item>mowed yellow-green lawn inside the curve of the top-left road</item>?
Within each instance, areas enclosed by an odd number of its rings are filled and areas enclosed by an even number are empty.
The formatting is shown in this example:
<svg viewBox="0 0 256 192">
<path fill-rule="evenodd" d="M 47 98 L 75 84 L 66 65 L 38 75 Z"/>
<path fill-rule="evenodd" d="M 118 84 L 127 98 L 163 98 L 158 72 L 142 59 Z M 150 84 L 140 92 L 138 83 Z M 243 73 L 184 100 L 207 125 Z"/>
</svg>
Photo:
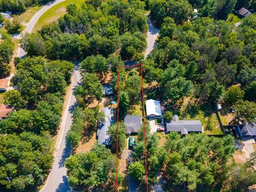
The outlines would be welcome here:
<svg viewBox="0 0 256 192">
<path fill-rule="evenodd" d="M 43 26 L 57 21 L 59 17 L 62 17 L 66 13 L 66 7 L 68 4 L 74 3 L 77 7 L 80 7 L 84 2 L 85 0 L 67 0 L 53 6 L 50 10 L 46 11 L 41 18 L 38 19 L 32 32 L 35 33 L 37 30 L 42 29 Z"/>
</svg>

